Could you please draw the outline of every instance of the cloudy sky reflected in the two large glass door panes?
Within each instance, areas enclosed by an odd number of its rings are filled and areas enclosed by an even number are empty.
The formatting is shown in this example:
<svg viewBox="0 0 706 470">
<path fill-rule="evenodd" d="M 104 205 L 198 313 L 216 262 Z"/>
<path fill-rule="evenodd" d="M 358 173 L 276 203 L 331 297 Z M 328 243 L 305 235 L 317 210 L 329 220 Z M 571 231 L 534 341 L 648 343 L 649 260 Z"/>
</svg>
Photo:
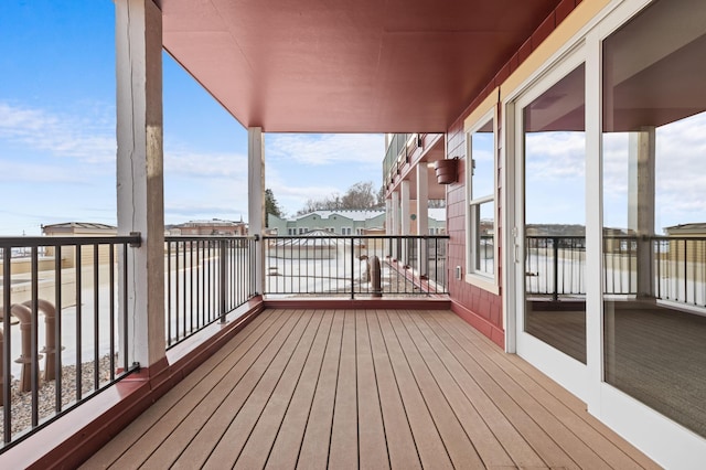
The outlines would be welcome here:
<svg viewBox="0 0 706 470">
<path fill-rule="evenodd" d="M 526 222 L 586 223 L 584 132 L 536 132 L 526 137 Z M 605 133 L 603 226 L 628 227 L 629 135 Z M 706 222 L 706 113 L 666 124 L 655 132 L 654 233 Z"/>
</svg>

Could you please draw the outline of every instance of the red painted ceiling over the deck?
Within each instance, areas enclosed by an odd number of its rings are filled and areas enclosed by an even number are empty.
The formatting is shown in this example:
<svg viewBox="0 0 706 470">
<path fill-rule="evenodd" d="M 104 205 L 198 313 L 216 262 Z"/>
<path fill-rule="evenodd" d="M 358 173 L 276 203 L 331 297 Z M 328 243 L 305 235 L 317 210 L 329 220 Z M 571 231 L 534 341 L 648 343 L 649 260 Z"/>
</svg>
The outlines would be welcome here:
<svg viewBox="0 0 706 470">
<path fill-rule="evenodd" d="M 161 0 L 163 43 L 245 127 L 443 132 L 559 0 Z"/>
</svg>

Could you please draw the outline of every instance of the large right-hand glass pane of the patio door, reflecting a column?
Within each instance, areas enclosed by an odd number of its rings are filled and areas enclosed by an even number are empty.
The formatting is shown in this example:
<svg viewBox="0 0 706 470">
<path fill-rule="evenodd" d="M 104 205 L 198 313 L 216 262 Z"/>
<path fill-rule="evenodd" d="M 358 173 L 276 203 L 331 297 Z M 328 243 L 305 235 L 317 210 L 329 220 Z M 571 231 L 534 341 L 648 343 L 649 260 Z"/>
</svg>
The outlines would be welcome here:
<svg viewBox="0 0 706 470">
<path fill-rule="evenodd" d="M 606 382 L 702 437 L 705 18 L 655 1 L 602 47 Z"/>
</svg>

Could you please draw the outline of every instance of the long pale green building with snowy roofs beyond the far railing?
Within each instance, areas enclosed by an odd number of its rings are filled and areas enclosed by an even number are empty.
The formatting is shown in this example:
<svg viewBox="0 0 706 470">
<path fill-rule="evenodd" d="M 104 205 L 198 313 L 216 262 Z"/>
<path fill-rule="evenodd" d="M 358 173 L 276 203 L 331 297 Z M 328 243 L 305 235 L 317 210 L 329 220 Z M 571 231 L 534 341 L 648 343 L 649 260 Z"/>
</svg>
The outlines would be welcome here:
<svg viewBox="0 0 706 470">
<path fill-rule="evenodd" d="M 443 214 L 443 209 L 429 210 L 429 234 L 445 232 Z M 379 235 L 384 234 L 385 211 L 314 211 L 289 220 L 268 214 L 268 228 L 281 236 L 303 235 L 311 231 L 325 231 L 332 235 Z"/>
</svg>

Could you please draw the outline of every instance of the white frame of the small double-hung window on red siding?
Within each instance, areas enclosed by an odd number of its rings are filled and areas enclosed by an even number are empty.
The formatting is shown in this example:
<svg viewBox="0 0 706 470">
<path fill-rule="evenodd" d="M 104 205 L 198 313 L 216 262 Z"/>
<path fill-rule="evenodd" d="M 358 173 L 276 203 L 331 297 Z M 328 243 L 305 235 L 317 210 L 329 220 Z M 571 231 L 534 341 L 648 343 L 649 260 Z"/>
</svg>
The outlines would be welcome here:
<svg viewBox="0 0 706 470">
<path fill-rule="evenodd" d="M 488 109 L 488 107 L 486 107 Z M 493 194 L 484 194 L 471 199 L 473 188 L 473 164 L 471 154 L 471 136 L 488 121 L 493 122 Z M 492 107 L 481 117 L 475 119 L 466 132 L 466 282 L 477 286 L 494 295 L 500 293 L 498 279 L 499 246 L 498 246 L 498 104 L 493 100 Z M 493 273 L 477 271 L 474 259 L 477 257 L 477 241 L 480 226 L 477 226 L 474 211 L 480 204 L 493 202 Z"/>
</svg>

